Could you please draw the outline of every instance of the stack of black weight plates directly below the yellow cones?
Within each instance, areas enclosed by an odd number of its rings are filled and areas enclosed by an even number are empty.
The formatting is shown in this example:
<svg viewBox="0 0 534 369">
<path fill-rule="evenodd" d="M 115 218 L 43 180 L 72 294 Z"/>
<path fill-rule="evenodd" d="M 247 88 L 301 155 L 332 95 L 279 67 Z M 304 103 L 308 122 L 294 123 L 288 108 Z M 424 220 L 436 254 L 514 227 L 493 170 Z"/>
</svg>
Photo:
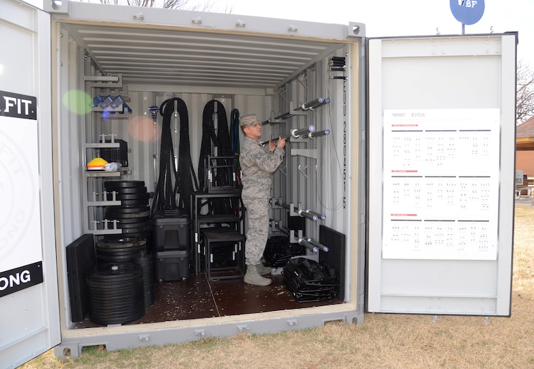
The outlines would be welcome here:
<svg viewBox="0 0 534 369">
<path fill-rule="evenodd" d="M 148 237 L 150 207 L 144 181 L 107 181 L 104 188 L 108 201 L 120 201 L 118 206 L 105 208 L 105 217 L 108 220 L 117 220 L 116 227 L 127 237 Z"/>
</svg>

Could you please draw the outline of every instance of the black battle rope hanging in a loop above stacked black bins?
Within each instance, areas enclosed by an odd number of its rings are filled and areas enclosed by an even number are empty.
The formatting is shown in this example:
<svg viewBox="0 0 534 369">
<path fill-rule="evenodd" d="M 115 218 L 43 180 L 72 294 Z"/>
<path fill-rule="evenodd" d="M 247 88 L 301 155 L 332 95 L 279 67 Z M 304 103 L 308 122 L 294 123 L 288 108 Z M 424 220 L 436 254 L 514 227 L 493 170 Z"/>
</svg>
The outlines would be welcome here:
<svg viewBox="0 0 534 369">
<path fill-rule="evenodd" d="M 177 112 L 180 117 L 180 145 L 178 170 L 175 167 L 175 153 L 173 149 L 173 136 L 170 129 L 170 122 L 175 112 L 175 102 Z M 192 181 L 196 182 L 194 169 L 191 161 L 189 143 L 189 122 L 186 103 L 182 99 L 168 99 L 160 105 L 160 114 L 163 117 L 162 139 L 160 149 L 160 175 L 154 192 L 151 216 L 155 210 L 170 210 L 181 207 L 190 211 L 190 193 L 194 190 Z M 190 174 L 190 175 L 188 175 Z M 173 179 L 175 186 L 173 186 Z M 189 179 L 189 181 L 187 181 Z M 197 185 L 198 187 L 198 185 Z M 176 205 L 176 195 L 180 194 L 178 205 Z"/>
</svg>

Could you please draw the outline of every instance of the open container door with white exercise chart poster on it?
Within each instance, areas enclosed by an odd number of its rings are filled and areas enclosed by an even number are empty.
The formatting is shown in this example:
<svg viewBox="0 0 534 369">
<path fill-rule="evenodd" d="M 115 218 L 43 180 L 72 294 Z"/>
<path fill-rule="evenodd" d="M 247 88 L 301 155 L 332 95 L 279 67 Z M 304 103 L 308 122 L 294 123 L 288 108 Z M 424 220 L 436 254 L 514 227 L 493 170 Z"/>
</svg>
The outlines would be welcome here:
<svg viewBox="0 0 534 369">
<path fill-rule="evenodd" d="M 368 311 L 509 316 L 516 43 L 368 40 Z"/>
</svg>

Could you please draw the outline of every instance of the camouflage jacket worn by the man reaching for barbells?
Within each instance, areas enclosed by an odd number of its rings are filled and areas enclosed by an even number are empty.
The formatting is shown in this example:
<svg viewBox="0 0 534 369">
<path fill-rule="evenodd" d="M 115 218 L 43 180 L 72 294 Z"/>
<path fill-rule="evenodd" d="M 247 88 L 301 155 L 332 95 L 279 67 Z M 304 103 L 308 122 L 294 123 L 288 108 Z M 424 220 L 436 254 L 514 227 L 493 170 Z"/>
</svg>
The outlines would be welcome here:
<svg viewBox="0 0 534 369">
<path fill-rule="evenodd" d="M 260 142 L 245 136 L 239 155 L 242 196 L 270 198 L 270 175 L 280 166 L 284 154 L 279 147 L 270 153 Z"/>
</svg>

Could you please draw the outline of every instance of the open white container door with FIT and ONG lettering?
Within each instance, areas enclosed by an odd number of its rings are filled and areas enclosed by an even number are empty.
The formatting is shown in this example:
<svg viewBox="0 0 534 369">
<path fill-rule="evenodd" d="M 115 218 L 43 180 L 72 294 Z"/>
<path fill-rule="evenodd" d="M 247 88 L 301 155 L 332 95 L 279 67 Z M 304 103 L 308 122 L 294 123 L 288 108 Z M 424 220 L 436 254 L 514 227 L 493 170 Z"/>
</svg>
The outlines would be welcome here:
<svg viewBox="0 0 534 369">
<path fill-rule="evenodd" d="M 60 342 L 50 16 L 0 0 L 0 367 Z"/>
</svg>

